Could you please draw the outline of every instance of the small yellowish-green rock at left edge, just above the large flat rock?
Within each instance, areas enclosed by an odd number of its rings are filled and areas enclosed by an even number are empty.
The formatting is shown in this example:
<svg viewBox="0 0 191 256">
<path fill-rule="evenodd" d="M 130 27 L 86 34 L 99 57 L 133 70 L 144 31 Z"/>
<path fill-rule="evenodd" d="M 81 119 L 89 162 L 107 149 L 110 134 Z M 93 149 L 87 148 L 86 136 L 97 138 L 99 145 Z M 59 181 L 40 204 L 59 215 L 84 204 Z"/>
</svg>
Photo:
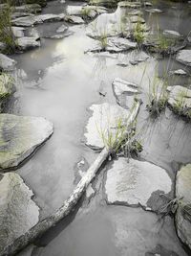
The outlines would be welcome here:
<svg viewBox="0 0 191 256">
<path fill-rule="evenodd" d="M 7 74 L 0 75 L 0 112 L 14 91 L 13 80 Z"/>
</svg>

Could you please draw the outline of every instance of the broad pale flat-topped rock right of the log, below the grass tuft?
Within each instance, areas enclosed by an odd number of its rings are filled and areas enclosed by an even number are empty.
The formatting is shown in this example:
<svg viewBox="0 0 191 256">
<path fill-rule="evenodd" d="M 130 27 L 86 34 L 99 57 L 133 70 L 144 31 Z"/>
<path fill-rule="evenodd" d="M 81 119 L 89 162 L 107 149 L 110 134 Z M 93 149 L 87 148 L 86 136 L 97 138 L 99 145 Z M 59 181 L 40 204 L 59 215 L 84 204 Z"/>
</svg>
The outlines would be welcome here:
<svg viewBox="0 0 191 256">
<path fill-rule="evenodd" d="M 107 172 L 105 193 L 108 203 L 141 205 L 145 209 L 156 210 L 156 205 L 148 205 L 148 200 L 156 192 L 170 193 L 171 186 L 169 175 L 159 166 L 134 159 L 128 162 L 127 158 L 119 158 Z"/>
</svg>

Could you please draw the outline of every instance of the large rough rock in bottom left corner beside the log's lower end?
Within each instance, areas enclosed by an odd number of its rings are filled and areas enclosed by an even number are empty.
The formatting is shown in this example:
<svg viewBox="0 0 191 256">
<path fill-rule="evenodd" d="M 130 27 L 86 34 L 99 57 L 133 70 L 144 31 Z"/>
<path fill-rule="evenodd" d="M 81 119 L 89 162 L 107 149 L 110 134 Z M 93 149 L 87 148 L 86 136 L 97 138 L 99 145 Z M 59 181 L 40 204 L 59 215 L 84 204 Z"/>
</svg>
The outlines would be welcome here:
<svg viewBox="0 0 191 256">
<path fill-rule="evenodd" d="M 19 175 L 0 175 L 0 253 L 38 221 L 39 208 Z"/>
</svg>

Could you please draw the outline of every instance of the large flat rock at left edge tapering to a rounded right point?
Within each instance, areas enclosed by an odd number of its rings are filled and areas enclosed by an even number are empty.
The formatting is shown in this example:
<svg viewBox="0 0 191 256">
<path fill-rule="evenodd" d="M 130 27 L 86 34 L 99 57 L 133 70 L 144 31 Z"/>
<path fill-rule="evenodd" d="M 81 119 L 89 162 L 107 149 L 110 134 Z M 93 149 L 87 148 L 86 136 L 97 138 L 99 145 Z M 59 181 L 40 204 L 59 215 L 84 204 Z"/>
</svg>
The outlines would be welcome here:
<svg viewBox="0 0 191 256">
<path fill-rule="evenodd" d="M 53 133 L 41 117 L 0 114 L 0 168 L 16 167 Z"/>
</svg>

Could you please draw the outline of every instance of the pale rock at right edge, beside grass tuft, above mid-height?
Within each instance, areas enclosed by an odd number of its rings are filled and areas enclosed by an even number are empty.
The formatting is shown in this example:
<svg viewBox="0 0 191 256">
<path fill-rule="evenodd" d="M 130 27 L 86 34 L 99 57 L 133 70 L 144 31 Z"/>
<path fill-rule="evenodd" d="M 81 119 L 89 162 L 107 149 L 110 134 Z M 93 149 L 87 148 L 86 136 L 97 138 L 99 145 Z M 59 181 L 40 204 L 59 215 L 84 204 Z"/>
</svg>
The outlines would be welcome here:
<svg viewBox="0 0 191 256">
<path fill-rule="evenodd" d="M 169 93 L 168 104 L 172 107 L 180 105 L 180 108 L 191 109 L 191 90 L 180 86 L 168 86 L 167 90 Z"/>
</svg>

